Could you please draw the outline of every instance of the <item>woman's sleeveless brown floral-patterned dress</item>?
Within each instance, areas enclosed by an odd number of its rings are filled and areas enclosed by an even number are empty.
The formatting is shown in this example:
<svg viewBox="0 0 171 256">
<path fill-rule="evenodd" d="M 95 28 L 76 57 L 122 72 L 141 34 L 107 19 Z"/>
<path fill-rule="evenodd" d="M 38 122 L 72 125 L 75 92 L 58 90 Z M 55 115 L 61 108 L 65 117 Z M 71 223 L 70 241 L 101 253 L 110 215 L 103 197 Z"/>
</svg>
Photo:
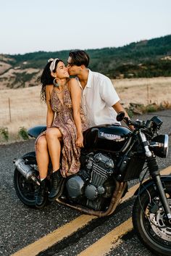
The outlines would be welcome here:
<svg viewBox="0 0 171 256">
<path fill-rule="evenodd" d="M 75 141 L 77 139 L 77 128 L 73 119 L 72 100 L 68 87 L 65 86 L 64 88 L 63 104 L 60 102 L 55 88 L 53 88 L 51 92 L 50 103 L 52 110 L 55 112 L 54 122 L 51 127 L 59 128 L 59 131 L 62 133 L 61 173 L 63 177 L 67 177 L 78 173 L 80 169 L 80 147 L 75 145 Z M 86 131 L 88 123 L 81 107 L 80 118 L 82 131 Z"/>
</svg>

